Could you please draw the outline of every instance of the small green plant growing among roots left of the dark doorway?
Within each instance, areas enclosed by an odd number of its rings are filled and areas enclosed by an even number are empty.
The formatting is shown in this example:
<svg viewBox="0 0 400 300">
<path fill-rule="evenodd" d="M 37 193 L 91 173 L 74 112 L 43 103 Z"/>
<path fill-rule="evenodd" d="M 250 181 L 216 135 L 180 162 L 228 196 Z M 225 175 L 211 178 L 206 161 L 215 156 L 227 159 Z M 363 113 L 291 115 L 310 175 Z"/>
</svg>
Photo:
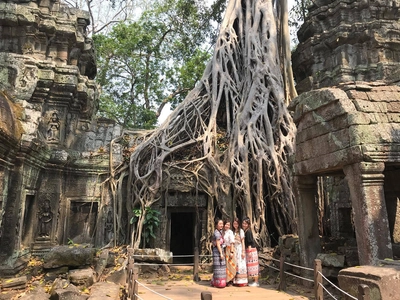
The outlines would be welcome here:
<svg viewBox="0 0 400 300">
<path fill-rule="evenodd" d="M 141 214 L 142 210 L 140 208 L 135 208 L 133 210 L 133 217 L 131 218 L 130 223 L 137 223 Z M 156 238 L 154 232 L 160 225 L 160 215 L 161 213 L 159 211 L 154 210 L 151 207 L 146 207 L 142 233 L 143 247 L 146 247 L 152 238 Z"/>
</svg>

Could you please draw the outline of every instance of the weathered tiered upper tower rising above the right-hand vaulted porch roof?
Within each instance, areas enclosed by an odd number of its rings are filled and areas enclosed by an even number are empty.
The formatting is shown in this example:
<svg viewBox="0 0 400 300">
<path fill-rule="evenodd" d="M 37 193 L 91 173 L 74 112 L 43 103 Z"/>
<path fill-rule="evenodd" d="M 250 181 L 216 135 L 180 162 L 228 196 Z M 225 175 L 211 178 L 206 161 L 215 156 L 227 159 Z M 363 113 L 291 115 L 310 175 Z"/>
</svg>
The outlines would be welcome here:
<svg viewBox="0 0 400 300">
<path fill-rule="evenodd" d="M 300 92 L 347 81 L 398 81 L 398 3 L 332 0 L 308 10 L 293 54 Z"/>
</svg>

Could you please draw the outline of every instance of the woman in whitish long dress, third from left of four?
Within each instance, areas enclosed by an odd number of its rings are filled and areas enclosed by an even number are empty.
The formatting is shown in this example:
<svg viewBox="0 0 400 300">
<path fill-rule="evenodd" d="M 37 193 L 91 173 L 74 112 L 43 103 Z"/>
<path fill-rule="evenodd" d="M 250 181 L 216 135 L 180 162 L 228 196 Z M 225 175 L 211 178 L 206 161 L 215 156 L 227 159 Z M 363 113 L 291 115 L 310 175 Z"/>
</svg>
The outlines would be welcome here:
<svg viewBox="0 0 400 300">
<path fill-rule="evenodd" d="M 244 231 L 240 228 L 238 218 L 233 220 L 233 234 L 235 237 L 235 256 L 236 256 L 236 276 L 233 279 L 233 284 L 236 286 L 247 285 L 247 266 L 246 253 L 244 245 Z"/>
</svg>

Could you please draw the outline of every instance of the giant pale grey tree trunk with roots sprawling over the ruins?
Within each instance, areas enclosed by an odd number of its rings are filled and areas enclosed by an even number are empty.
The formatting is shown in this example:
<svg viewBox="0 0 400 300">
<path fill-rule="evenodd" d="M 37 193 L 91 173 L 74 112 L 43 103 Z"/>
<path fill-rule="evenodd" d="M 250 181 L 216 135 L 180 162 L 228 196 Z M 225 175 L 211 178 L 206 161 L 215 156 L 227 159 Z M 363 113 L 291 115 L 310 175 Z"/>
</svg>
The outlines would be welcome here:
<svg viewBox="0 0 400 300">
<path fill-rule="evenodd" d="M 271 231 L 295 230 L 287 166 L 295 126 L 285 105 L 275 15 L 272 0 L 229 2 L 201 82 L 131 156 L 128 194 L 142 207 L 160 199 L 168 164 L 194 175 L 194 188 L 215 199 L 217 213 L 226 214 L 221 199 L 233 198 L 253 221 L 259 246 L 270 246 Z"/>
</svg>

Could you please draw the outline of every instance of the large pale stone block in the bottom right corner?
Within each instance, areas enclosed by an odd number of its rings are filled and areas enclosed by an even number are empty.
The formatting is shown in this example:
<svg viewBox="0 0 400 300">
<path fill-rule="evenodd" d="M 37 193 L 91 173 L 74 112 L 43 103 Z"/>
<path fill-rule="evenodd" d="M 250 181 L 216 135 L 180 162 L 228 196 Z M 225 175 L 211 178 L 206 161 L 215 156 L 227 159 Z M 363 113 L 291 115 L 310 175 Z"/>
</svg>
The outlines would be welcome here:
<svg viewBox="0 0 400 300">
<path fill-rule="evenodd" d="M 400 267 L 358 266 L 342 269 L 338 276 L 339 287 L 357 297 L 358 286 L 368 285 L 371 300 L 393 300 L 400 295 Z"/>
</svg>

